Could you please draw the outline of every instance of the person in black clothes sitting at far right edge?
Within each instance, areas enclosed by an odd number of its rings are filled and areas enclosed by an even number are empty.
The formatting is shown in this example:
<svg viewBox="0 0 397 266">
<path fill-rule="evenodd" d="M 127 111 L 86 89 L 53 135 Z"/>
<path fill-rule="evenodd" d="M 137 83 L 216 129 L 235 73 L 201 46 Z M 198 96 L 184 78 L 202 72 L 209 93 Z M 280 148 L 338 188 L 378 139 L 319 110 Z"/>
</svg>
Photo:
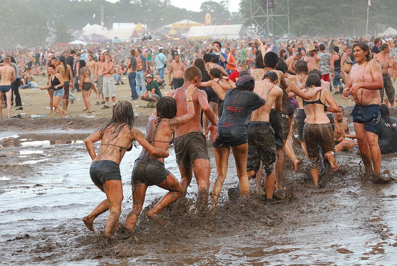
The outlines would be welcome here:
<svg viewBox="0 0 397 266">
<path fill-rule="evenodd" d="M 386 104 L 381 105 L 381 129 L 379 132 L 378 144 L 382 154 L 397 151 L 397 119 L 390 117 L 389 108 Z"/>
</svg>

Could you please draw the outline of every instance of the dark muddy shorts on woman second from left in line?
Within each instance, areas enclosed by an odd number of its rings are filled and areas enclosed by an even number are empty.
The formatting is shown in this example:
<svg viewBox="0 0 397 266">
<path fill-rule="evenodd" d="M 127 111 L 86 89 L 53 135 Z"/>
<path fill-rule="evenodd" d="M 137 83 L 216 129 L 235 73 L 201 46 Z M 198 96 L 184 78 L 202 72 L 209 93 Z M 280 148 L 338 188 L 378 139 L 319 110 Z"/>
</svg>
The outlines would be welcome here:
<svg viewBox="0 0 397 266">
<path fill-rule="evenodd" d="M 137 158 L 133 165 L 131 183 L 146 183 L 148 186 L 160 184 L 167 178 L 170 171 L 164 163 L 156 159 Z"/>
</svg>

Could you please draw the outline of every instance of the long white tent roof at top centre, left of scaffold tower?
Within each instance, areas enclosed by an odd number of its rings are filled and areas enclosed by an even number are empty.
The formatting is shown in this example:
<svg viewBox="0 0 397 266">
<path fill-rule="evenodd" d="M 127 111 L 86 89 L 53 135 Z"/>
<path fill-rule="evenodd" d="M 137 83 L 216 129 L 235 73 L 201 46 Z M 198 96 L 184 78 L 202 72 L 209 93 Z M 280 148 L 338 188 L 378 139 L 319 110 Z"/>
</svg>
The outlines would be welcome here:
<svg viewBox="0 0 397 266">
<path fill-rule="evenodd" d="M 188 39 L 240 39 L 244 34 L 243 24 L 197 26 L 190 28 Z"/>
</svg>

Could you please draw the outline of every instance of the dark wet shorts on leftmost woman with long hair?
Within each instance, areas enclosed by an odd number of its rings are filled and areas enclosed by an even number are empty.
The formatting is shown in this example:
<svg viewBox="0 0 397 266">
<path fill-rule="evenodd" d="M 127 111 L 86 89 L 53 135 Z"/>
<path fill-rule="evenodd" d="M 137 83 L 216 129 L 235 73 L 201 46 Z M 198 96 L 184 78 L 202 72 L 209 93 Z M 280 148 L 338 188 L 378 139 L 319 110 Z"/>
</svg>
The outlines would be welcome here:
<svg viewBox="0 0 397 266">
<path fill-rule="evenodd" d="M 110 160 L 92 162 L 90 177 L 95 186 L 100 186 L 108 180 L 121 180 L 120 167 Z"/>
</svg>

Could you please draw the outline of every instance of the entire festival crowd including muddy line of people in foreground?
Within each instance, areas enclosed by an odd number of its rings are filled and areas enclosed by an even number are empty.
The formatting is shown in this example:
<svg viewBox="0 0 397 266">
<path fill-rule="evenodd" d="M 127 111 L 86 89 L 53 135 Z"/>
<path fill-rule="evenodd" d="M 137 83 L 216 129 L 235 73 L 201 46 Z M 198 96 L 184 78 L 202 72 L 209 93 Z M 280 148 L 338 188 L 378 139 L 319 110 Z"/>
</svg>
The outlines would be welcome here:
<svg viewBox="0 0 397 266">
<path fill-rule="evenodd" d="M 295 171 L 301 164 L 292 145 L 294 123 L 315 186 L 325 164 L 337 171 L 336 153 L 355 146 L 365 166 L 364 180 L 385 181 L 381 153 L 397 149 L 393 141 L 396 120 L 389 116 L 387 106 L 394 107 L 396 48 L 397 38 L 376 38 L 372 42 L 294 40 L 277 46 L 254 38 L 251 42 L 181 41 L 178 45 L 146 41 L 132 46 L 77 47 L 77 51 L 58 48 L 39 50 L 36 56 L 27 51 L 13 58 L 5 53 L 4 66 L 0 67 L 0 97 L 5 94 L 8 108 L 12 91 L 15 106 L 19 106 L 19 94 L 11 89 L 15 80 L 23 79 L 21 88 L 25 88 L 34 84 L 29 76 L 48 73 L 48 84 L 41 89 L 48 90 L 51 112 L 54 106 L 60 116 L 67 115 L 73 89 L 82 90 L 85 112 L 92 112 L 91 91 L 96 94 L 96 105 L 103 104 L 102 109 L 110 108 L 112 101 L 111 122 L 85 140 L 93 159 L 91 179 L 107 199 L 83 218 L 87 228 L 93 230 L 94 219 L 110 210 L 105 234 L 112 235 L 123 199 L 119 165 L 134 140 L 143 148 L 132 170 L 133 208 L 126 220 L 130 230 L 141 212 L 148 186 L 169 191 L 146 213 L 161 223 L 159 212 L 186 195 L 193 175 L 198 184 L 197 213 L 207 213 L 208 205 L 210 213 L 216 213 L 230 147 L 238 184 L 228 190 L 229 197 L 247 197 L 249 180 L 256 178 L 255 190 L 264 193 L 268 201 L 274 200 L 273 192 L 282 187 L 284 154 Z M 16 63 L 10 63 L 12 59 Z M 37 72 L 35 68 L 39 68 Z M 140 99 L 156 107 L 145 136 L 132 127 L 131 103 L 116 103 L 115 85 L 122 75 L 128 75 L 130 100 Z M 172 90 L 162 95 L 160 88 L 165 88 L 167 75 Z M 332 91 L 354 100 L 355 133 L 350 133 L 344 108 L 337 105 Z M 206 144 L 209 132 L 216 163 L 211 194 Z M 99 140 L 101 149 L 96 155 L 93 143 Z M 180 181 L 164 168 L 171 143 Z"/>
</svg>

